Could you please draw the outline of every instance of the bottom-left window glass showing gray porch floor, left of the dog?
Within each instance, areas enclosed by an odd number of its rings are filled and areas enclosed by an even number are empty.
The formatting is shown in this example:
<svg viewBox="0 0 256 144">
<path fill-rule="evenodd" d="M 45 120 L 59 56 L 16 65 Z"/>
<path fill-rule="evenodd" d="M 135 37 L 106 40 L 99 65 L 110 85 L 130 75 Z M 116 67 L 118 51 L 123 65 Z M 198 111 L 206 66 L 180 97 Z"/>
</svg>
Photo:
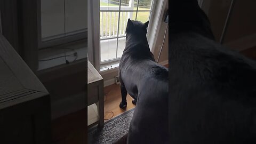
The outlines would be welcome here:
<svg viewBox="0 0 256 144">
<path fill-rule="evenodd" d="M 117 42 L 117 38 L 100 41 L 101 61 L 106 61 L 106 60 L 116 58 L 116 42 Z"/>
</svg>

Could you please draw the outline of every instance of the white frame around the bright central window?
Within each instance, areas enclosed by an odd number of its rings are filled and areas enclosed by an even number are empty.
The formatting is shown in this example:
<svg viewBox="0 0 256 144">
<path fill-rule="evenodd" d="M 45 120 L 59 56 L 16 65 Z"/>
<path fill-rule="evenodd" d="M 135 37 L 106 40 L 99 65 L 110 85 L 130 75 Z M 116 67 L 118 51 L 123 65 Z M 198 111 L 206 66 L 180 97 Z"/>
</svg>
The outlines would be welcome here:
<svg viewBox="0 0 256 144">
<path fill-rule="evenodd" d="M 149 19 L 148 27 L 148 42 L 150 51 L 154 52 L 156 45 L 156 35 L 159 33 L 160 24 L 164 10 L 163 5 L 167 4 L 168 0 L 154 1 L 152 12 Z M 158 7 L 161 7 L 159 12 L 156 12 Z M 88 60 L 101 74 L 113 73 L 118 70 L 118 67 L 114 67 L 108 70 L 100 71 L 100 3 L 99 1 L 89 0 L 88 2 Z M 152 35 L 154 34 L 154 35 Z"/>
</svg>

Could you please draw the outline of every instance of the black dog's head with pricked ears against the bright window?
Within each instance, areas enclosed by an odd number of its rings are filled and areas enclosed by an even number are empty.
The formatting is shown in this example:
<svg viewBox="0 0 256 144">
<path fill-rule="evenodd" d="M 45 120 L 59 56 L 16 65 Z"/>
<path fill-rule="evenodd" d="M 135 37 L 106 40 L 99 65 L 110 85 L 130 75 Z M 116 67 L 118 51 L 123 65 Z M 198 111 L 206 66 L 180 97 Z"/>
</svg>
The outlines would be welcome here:
<svg viewBox="0 0 256 144">
<path fill-rule="evenodd" d="M 133 21 L 128 19 L 127 27 L 125 30 L 126 38 L 134 37 L 138 40 L 141 38 L 146 38 L 148 21 L 142 23 L 140 21 Z"/>
</svg>

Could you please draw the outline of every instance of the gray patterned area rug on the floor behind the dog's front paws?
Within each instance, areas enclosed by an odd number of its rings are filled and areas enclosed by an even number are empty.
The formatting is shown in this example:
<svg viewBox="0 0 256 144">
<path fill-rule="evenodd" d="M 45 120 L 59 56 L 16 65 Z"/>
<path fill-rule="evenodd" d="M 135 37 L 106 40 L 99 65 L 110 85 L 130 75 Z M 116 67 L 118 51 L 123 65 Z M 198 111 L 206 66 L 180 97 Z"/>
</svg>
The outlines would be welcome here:
<svg viewBox="0 0 256 144">
<path fill-rule="evenodd" d="M 122 138 L 129 131 L 133 112 L 134 108 L 110 119 L 101 130 L 97 126 L 91 127 L 88 131 L 88 143 L 110 144 Z"/>
</svg>

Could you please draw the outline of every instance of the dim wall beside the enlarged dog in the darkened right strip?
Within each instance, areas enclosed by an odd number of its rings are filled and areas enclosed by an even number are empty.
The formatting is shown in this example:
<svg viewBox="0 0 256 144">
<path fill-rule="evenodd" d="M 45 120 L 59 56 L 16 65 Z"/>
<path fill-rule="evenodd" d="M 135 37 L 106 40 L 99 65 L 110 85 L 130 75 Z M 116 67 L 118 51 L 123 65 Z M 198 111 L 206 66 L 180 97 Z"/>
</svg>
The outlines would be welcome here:
<svg viewBox="0 0 256 144">
<path fill-rule="evenodd" d="M 231 0 L 204 0 L 202 9 L 208 15 L 216 40 L 219 42 Z M 224 45 L 236 51 L 256 46 L 256 1 L 237 0 L 231 13 Z"/>
</svg>

